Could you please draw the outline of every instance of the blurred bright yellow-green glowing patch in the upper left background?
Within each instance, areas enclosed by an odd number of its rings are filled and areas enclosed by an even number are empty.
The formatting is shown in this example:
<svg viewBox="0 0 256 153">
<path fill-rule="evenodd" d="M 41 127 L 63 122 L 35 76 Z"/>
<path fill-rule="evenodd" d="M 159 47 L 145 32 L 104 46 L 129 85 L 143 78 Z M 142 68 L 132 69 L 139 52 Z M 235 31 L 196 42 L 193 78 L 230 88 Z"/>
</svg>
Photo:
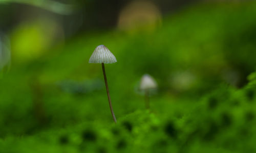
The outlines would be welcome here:
<svg viewBox="0 0 256 153">
<path fill-rule="evenodd" d="M 63 39 L 61 27 L 52 19 L 38 19 L 15 27 L 11 34 L 12 56 L 15 61 L 38 58 Z M 33 43 L 32 43 L 33 42 Z"/>
</svg>

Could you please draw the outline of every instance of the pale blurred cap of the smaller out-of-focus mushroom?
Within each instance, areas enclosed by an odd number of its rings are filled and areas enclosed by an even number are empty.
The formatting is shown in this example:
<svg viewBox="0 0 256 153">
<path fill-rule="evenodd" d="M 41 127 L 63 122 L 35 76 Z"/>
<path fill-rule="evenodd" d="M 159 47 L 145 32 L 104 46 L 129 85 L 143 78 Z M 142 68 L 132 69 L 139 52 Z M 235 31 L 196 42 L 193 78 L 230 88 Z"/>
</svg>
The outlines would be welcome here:
<svg viewBox="0 0 256 153">
<path fill-rule="evenodd" d="M 140 90 L 148 90 L 148 89 L 156 89 L 157 88 L 157 82 L 155 79 L 148 75 L 144 74 L 140 81 Z"/>
</svg>

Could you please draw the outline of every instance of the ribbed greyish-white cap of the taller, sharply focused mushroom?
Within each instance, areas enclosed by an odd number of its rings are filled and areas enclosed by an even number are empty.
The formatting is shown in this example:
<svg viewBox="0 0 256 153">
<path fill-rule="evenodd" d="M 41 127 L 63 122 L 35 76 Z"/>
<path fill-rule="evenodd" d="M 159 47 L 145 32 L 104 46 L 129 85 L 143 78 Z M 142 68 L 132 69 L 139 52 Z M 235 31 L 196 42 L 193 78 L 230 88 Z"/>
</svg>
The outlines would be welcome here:
<svg viewBox="0 0 256 153">
<path fill-rule="evenodd" d="M 94 50 L 89 63 L 114 63 L 116 57 L 104 45 L 99 45 Z"/>
</svg>

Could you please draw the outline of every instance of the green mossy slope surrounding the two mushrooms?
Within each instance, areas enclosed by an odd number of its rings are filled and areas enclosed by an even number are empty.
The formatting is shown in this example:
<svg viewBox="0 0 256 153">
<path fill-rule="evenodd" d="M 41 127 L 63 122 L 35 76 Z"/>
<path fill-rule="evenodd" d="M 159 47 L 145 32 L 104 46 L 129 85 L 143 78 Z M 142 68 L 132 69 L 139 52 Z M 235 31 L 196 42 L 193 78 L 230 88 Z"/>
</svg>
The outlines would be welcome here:
<svg viewBox="0 0 256 153">
<path fill-rule="evenodd" d="M 194 6 L 150 32 L 82 34 L 12 61 L 0 80 L 0 152 L 254 152 L 255 8 Z M 28 31 L 11 47 L 40 35 Z M 99 43 L 118 60 L 105 65 L 116 125 L 100 64 L 88 64 Z M 159 83 L 151 111 L 135 92 L 145 73 Z"/>
</svg>

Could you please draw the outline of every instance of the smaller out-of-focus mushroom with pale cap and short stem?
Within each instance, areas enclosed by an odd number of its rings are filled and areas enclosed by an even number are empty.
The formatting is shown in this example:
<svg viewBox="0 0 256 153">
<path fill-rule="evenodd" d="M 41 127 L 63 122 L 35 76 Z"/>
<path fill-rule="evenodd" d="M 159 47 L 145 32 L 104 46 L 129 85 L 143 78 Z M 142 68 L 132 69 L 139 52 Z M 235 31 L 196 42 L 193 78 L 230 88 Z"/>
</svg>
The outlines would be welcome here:
<svg viewBox="0 0 256 153">
<path fill-rule="evenodd" d="M 157 89 L 157 82 L 149 74 L 144 74 L 140 81 L 140 90 L 144 91 L 145 94 L 145 106 L 147 109 L 150 108 L 150 91 Z"/>
</svg>

